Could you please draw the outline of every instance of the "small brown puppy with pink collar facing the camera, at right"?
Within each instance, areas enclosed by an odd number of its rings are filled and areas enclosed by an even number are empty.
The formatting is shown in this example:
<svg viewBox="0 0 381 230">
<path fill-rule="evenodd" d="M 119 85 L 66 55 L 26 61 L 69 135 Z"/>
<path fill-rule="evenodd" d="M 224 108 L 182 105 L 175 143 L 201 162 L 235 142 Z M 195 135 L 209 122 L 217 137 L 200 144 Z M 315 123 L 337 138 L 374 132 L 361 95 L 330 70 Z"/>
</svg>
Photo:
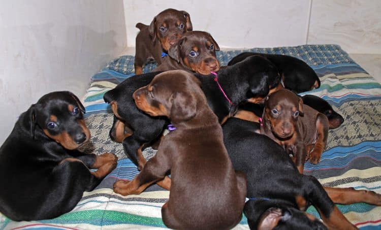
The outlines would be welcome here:
<svg viewBox="0 0 381 230">
<path fill-rule="evenodd" d="M 303 105 L 301 97 L 288 89 L 274 92 L 267 97 L 262 119 L 261 134 L 292 154 L 300 173 L 306 159 L 311 163 L 320 161 L 327 144 L 328 118 Z"/>
</svg>

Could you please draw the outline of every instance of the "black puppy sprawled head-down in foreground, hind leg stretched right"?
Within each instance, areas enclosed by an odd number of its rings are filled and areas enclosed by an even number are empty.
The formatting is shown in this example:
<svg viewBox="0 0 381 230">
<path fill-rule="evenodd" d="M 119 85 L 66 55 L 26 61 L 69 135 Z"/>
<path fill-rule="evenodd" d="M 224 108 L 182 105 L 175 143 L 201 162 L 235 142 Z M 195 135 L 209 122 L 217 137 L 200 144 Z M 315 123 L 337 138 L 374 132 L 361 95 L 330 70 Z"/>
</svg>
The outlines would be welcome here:
<svg viewBox="0 0 381 230">
<path fill-rule="evenodd" d="M 247 178 L 249 201 L 243 211 L 251 229 L 326 229 L 322 222 L 304 212 L 310 205 L 328 228 L 354 229 L 334 203 L 381 205 L 381 194 L 353 188 L 323 188 L 314 177 L 299 174 L 285 150 L 257 134 L 258 128 L 259 123 L 238 118 L 229 118 L 223 125 L 224 143 L 234 169 Z"/>
</svg>

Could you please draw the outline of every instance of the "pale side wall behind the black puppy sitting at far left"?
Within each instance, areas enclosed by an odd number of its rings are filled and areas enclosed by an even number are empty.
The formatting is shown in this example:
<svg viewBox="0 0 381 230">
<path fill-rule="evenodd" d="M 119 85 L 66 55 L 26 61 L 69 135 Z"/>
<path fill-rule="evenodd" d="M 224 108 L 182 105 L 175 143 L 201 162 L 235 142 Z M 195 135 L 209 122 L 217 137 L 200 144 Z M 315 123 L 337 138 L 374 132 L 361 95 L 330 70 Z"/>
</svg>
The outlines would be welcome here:
<svg viewBox="0 0 381 230">
<path fill-rule="evenodd" d="M 0 143 L 45 93 L 82 97 L 90 77 L 126 46 L 123 2 L 2 1 Z"/>
</svg>

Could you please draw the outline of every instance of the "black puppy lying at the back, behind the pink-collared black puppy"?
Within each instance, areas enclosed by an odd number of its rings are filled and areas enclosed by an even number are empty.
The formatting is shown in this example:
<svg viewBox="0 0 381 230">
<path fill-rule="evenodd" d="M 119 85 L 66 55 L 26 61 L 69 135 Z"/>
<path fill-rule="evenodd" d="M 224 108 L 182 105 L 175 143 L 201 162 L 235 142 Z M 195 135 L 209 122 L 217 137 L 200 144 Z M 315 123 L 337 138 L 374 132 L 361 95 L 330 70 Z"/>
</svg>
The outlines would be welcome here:
<svg viewBox="0 0 381 230">
<path fill-rule="evenodd" d="M 300 93 L 320 87 L 320 79 L 312 68 L 303 60 L 292 56 L 244 52 L 233 57 L 228 65 L 237 63 L 252 55 L 264 56 L 276 65 L 282 77 L 284 88 Z"/>
</svg>

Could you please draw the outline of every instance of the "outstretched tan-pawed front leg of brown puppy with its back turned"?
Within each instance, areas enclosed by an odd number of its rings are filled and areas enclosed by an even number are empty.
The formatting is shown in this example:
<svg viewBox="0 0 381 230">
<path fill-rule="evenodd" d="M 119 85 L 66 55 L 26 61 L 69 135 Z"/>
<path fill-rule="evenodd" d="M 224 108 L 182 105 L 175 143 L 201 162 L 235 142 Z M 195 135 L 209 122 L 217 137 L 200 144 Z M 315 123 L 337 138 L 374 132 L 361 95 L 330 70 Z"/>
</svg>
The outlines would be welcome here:
<svg viewBox="0 0 381 230">
<path fill-rule="evenodd" d="M 170 168 L 156 156 L 157 153 L 147 161 L 143 170 L 131 182 L 116 181 L 113 185 L 114 192 L 121 195 L 140 194 L 152 183 L 162 180 Z"/>
</svg>

